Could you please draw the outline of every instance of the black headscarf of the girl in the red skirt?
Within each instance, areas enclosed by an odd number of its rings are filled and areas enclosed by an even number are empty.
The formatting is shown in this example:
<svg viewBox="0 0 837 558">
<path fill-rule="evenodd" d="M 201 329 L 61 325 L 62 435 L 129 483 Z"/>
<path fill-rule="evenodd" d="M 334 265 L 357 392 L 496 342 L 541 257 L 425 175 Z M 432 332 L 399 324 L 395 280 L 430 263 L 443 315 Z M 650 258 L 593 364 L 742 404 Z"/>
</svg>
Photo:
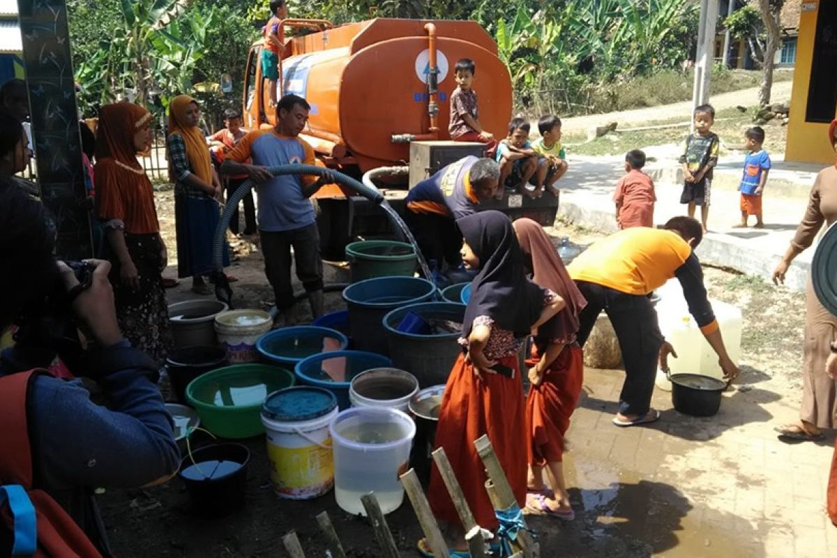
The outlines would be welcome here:
<svg viewBox="0 0 837 558">
<path fill-rule="evenodd" d="M 499 211 L 484 211 L 460 218 L 456 224 L 480 259 L 480 273 L 471 282 L 463 335 L 470 335 L 475 318 L 481 315 L 516 336 L 529 335 L 543 310 L 545 294 L 526 279 L 523 253 L 511 221 Z"/>
</svg>

